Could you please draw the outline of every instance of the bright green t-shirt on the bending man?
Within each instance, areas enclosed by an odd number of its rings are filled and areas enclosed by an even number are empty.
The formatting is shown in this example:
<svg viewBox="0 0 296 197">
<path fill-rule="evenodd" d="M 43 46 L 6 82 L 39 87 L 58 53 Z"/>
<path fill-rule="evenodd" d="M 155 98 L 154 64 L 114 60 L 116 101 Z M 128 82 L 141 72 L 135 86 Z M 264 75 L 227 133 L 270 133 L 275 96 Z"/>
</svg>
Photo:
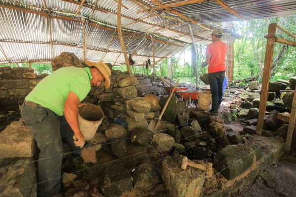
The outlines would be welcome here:
<svg viewBox="0 0 296 197">
<path fill-rule="evenodd" d="M 69 92 L 74 92 L 81 102 L 90 91 L 91 79 L 89 68 L 63 67 L 42 79 L 25 100 L 40 104 L 62 116 Z"/>
</svg>

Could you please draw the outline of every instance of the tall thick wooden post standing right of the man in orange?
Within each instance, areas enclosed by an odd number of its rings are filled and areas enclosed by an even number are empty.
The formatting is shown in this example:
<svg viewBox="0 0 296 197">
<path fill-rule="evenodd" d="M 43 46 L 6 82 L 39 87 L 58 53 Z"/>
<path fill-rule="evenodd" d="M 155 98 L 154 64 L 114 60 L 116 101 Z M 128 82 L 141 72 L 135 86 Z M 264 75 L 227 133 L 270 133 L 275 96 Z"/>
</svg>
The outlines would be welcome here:
<svg viewBox="0 0 296 197">
<path fill-rule="evenodd" d="M 264 69 L 263 69 L 263 79 L 262 79 L 262 88 L 261 88 L 260 105 L 259 105 L 259 114 L 258 114 L 258 119 L 257 119 L 256 133 L 259 135 L 261 135 L 262 130 L 263 130 L 264 115 L 265 115 L 265 110 L 266 110 L 267 96 L 268 96 L 268 89 L 269 89 L 272 55 L 273 55 L 273 48 L 274 48 L 274 44 L 275 44 L 275 33 L 276 33 L 276 23 L 272 23 L 268 27 L 265 62 L 264 62 Z"/>
</svg>

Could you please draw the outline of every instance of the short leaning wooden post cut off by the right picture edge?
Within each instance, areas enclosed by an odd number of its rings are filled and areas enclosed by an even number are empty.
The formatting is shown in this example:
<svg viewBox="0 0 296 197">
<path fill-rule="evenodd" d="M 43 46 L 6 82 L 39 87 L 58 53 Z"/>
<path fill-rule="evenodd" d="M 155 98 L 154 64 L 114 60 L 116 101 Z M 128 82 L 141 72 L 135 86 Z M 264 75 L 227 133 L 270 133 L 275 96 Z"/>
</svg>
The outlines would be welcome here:
<svg viewBox="0 0 296 197">
<path fill-rule="evenodd" d="M 290 120 L 289 120 L 289 126 L 288 126 L 288 132 L 285 142 L 285 152 L 290 151 L 291 141 L 292 141 L 292 135 L 294 130 L 294 124 L 295 124 L 295 118 L 296 118 L 296 87 L 294 91 L 294 97 L 292 101 L 292 109 L 290 114 Z"/>
</svg>

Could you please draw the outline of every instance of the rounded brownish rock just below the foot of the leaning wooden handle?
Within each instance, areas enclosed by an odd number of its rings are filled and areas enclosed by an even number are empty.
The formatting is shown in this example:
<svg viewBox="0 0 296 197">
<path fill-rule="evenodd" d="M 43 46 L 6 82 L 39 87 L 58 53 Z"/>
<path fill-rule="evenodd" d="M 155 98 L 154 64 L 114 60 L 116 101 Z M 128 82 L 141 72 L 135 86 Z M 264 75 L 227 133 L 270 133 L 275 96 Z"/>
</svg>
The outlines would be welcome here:
<svg viewBox="0 0 296 197">
<path fill-rule="evenodd" d="M 172 136 L 165 133 L 157 133 L 155 134 L 151 145 L 156 147 L 158 152 L 165 153 L 170 152 L 173 149 L 173 145 L 175 140 Z"/>
</svg>

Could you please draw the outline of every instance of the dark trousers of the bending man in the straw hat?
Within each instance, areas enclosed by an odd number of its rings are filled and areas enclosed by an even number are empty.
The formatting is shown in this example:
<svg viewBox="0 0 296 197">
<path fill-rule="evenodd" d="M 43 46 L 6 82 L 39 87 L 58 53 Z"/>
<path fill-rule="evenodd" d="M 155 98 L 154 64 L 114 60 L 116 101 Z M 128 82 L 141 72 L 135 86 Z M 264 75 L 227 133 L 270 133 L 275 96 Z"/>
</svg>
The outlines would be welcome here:
<svg viewBox="0 0 296 197">
<path fill-rule="evenodd" d="M 38 196 L 50 197 L 58 194 L 61 187 L 63 140 L 74 150 L 80 149 L 73 143 L 71 130 L 64 116 L 58 116 L 41 105 L 24 102 L 21 108 L 24 122 L 31 128 L 40 149 L 38 159 Z"/>
</svg>

